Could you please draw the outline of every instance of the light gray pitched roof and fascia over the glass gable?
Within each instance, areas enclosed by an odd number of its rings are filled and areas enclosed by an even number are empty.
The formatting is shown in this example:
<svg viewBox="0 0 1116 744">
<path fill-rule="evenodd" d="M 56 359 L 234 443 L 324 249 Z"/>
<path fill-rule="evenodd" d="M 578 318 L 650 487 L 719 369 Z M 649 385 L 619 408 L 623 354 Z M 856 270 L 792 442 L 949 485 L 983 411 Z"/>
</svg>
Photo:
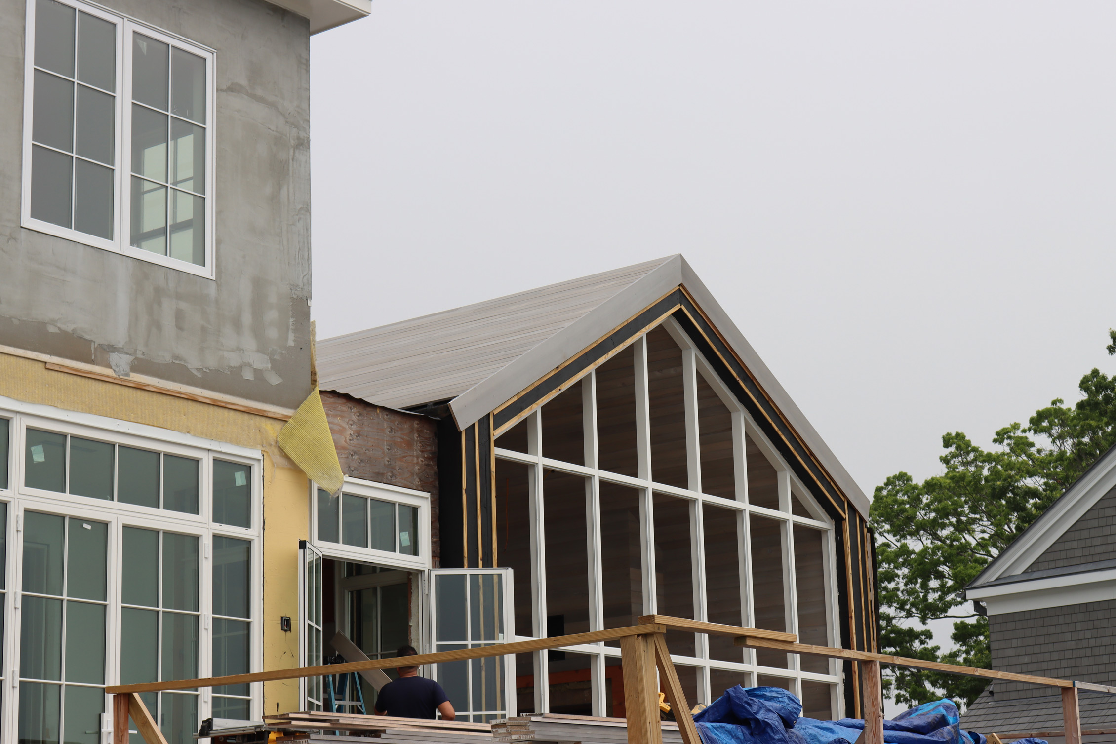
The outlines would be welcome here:
<svg viewBox="0 0 1116 744">
<path fill-rule="evenodd" d="M 867 496 L 679 254 L 326 339 L 319 386 L 392 408 L 451 400 L 464 428 L 679 286 L 867 516 Z"/>
</svg>

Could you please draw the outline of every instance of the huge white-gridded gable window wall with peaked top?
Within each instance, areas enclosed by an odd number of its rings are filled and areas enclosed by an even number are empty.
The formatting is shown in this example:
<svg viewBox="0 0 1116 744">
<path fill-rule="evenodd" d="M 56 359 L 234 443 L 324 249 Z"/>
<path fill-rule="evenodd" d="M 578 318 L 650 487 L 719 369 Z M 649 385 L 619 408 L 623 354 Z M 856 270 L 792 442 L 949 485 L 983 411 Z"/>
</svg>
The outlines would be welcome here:
<svg viewBox="0 0 1116 744">
<path fill-rule="evenodd" d="M 833 523 L 667 319 L 496 441 L 498 560 L 521 639 L 662 613 L 838 645 Z M 691 700 L 783 687 L 839 714 L 839 668 L 670 632 Z M 519 713 L 623 715 L 618 645 L 517 658 Z M 546 679 L 547 684 L 539 680 Z"/>
</svg>

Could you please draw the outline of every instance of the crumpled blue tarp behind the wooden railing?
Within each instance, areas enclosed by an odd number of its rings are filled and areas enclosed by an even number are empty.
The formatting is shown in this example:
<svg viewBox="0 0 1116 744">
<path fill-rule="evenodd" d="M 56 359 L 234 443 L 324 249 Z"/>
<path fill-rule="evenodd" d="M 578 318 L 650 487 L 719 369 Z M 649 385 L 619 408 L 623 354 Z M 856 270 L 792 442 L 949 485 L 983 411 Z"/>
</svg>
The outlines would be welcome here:
<svg viewBox="0 0 1116 744">
<path fill-rule="evenodd" d="M 694 716 L 702 744 L 854 744 L 864 731 L 860 718 L 800 718 L 801 702 L 780 687 L 740 685 L 724 690 Z M 920 705 L 884 722 L 885 744 L 987 744 L 982 734 L 962 731 L 952 700 Z M 1022 738 L 1016 744 L 1047 744 Z"/>
</svg>

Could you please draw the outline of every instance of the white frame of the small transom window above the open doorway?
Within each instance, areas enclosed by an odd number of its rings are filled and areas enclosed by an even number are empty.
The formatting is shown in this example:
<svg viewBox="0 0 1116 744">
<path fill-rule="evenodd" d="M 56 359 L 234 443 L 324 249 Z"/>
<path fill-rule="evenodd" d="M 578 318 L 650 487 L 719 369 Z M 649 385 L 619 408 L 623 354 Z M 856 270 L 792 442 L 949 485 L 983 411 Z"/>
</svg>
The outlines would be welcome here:
<svg viewBox="0 0 1116 744">
<path fill-rule="evenodd" d="M 326 542 L 318 540 L 318 485 L 310 483 L 310 544 L 324 557 L 350 561 L 354 563 L 375 563 L 388 568 L 405 569 L 407 571 L 423 571 L 433 568 L 431 558 L 431 523 L 430 523 L 430 494 L 425 491 L 404 489 L 387 483 L 376 483 L 360 479 L 345 476 L 345 484 L 341 493 L 367 499 L 378 499 L 396 504 L 419 508 L 419 554 L 404 555 L 403 553 L 389 552 L 386 550 L 374 550 L 372 548 L 356 548 L 338 542 Z"/>
</svg>

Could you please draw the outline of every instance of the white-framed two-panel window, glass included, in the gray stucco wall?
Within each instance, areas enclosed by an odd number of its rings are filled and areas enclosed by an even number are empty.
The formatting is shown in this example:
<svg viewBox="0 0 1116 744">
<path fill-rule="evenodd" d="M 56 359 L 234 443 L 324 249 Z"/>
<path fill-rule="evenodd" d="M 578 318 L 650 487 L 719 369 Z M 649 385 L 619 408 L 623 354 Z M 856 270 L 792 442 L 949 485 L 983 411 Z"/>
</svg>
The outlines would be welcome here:
<svg viewBox="0 0 1116 744">
<path fill-rule="evenodd" d="M 213 276 L 213 52 L 28 0 L 23 226 Z"/>
</svg>

